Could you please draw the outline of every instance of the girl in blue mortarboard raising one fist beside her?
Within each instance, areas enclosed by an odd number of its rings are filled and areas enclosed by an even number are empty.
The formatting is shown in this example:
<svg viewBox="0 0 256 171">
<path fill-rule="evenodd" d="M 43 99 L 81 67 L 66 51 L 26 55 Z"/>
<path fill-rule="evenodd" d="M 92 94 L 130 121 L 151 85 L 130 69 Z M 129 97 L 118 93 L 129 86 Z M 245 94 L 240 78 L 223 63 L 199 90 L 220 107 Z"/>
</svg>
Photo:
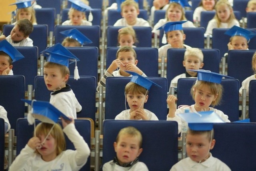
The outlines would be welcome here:
<svg viewBox="0 0 256 171">
<path fill-rule="evenodd" d="M 223 88 L 220 82 L 224 75 L 204 70 L 191 71 L 198 72 L 197 81 L 190 90 L 195 104 L 191 106 L 186 105 L 183 107 L 178 107 L 178 109 L 176 109 L 175 101 L 177 98 L 174 95 L 169 95 L 167 97 L 167 103 L 169 105 L 167 120 L 178 122 L 178 133 L 181 132 L 182 125 L 186 125 L 187 123 L 183 123 L 177 114 L 184 113 L 186 109 L 189 109 L 190 112 L 214 111 L 225 122 L 230 122 L 230 120 L 228 120 L 228 115 L 225 115 L 222 111 L 213 108 L 215 105 L 220 104 L 222 99 Z M 228 76 L 225 77 L 230 78 Z M 210 105 L 213 107 L 210 107 Z"/>
</svg>

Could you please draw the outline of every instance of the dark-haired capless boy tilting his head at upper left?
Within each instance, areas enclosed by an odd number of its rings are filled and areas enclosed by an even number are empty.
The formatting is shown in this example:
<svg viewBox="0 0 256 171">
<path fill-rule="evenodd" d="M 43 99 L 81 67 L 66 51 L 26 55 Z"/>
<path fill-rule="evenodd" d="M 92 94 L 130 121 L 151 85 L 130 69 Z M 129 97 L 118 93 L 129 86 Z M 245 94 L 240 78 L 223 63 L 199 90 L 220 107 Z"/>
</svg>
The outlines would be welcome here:
<svg viewBox="0 0 256 171">
<path fill-rule="evenodd" d="M 32 31 L 32 23 L 24 18 L 14 25 L 9 36 L 2 35 L 0 40 L 6 39 L 12 46 L 33 46 L 33 40 L 28 37 Z"/>
</svg>

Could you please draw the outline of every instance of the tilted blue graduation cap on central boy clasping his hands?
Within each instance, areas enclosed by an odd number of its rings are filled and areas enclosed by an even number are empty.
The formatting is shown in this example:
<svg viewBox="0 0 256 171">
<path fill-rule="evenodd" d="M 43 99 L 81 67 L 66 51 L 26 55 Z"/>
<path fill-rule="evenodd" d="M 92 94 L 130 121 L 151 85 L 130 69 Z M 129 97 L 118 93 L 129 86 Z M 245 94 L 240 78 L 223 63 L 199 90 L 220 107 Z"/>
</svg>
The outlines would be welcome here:
<svg viewBox="0 0 256 171">
<path fill-rule="evenodd" d="M 142 86 L 142 87 L 144 87 L 144 88 L 146 88 L 148 90 L 150 89 L 150 87 L 152 85 L 156 85 L 158 87 L 161 87 L 160 85 L 158 85 L 158 84 L 148 80 L 145 77 L 142 77 L 141 75 L 137 74 L 136 72 L 132 72 L 132 71 L 125 71 L 125 72 L 127 72 L 127 73 L 132 75 L 132 78 L 131 78 L 130 82 L 134 82 L 134 83 L 136 83 L 136 84 L 138 84 L 138 85 L 140 85 L 140 86 Z"/>
</svg>

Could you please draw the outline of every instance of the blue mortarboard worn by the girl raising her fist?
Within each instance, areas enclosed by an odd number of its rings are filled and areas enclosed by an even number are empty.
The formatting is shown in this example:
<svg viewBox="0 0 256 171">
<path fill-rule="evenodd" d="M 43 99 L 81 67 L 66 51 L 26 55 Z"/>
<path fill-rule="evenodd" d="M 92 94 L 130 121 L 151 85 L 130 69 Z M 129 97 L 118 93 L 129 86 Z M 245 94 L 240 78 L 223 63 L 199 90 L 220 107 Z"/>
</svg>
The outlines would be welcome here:
<svg viewBox="0 0 256 171">
<path fill-rule="evenodd" d="M 233 78 L 230 76 L 225 76 L 222 74 L 218 74 L 216 72 L 206 71 L 206 70 L 188 70 L 188 71 L 194 71 L 197 72 L 197 80 L 198 81 L 205 81 L 205 82 L 212 82 L 212 83 L 218 83 L 220 84 L 222 77 L 226 78 Z"/>
</svg>

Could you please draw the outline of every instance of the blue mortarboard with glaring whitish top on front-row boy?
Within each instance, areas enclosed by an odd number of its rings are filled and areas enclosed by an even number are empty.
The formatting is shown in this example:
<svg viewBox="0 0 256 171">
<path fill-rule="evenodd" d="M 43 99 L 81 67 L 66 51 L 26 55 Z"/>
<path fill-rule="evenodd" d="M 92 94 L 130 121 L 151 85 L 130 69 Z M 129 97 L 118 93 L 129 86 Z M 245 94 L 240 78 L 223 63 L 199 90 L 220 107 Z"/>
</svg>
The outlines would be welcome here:
<svg viewBox="0 0 256 171">
<path fill-rule="evenodd" d="M 213 123 L 225 123 L 214 111 L 201 111 L 197 113 L 178 113 L 181 119 L 188 123 L 194 131 L 210 131 Z"/>
</svg>

